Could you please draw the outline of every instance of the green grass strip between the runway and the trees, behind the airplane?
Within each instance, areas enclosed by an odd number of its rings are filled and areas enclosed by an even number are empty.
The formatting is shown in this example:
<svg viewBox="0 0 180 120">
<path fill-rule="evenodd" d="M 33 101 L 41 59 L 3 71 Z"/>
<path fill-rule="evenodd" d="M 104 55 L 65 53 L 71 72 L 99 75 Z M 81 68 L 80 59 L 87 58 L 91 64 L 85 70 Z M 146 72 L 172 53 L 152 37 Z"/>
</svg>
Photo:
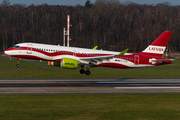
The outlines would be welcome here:
<svg viewBox="0 0 180 120">
<path fill-rule="evenodd" d="M 45 63 L 45 62 L 43 62 Z M 54 66 L 39 66 L 17 60 L 0 60 L 0 78 L 180 78 L 180 60 L 174 64 L 135 69 L 91 67 L 91 75 L 81 75 L 78 69 L 64 69 Z"/>
</svg>

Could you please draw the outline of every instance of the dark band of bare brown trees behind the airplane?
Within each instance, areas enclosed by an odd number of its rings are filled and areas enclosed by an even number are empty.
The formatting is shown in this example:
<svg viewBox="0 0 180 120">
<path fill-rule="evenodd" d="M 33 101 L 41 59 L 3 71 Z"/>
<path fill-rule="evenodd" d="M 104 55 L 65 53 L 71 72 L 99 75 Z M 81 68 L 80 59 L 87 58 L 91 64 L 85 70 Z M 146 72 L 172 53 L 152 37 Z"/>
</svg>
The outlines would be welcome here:
<svg viewBox="0 0 180 120">
<path fill-rule="evenodd" d="M 89 0 L 88 0 L 89 1 Z M 92 5 L 92 4 L 91 4 Z M 180 6 L 140 5 L 96 0 L 81 5 L 0 5 L 0 51 L 21 42 L 63 44 L 63 28 L 71 16 L 70 46 L 140 52 L 163 31 L 172 31 L 168 50 L 180 51 Z"/>
</svg>

